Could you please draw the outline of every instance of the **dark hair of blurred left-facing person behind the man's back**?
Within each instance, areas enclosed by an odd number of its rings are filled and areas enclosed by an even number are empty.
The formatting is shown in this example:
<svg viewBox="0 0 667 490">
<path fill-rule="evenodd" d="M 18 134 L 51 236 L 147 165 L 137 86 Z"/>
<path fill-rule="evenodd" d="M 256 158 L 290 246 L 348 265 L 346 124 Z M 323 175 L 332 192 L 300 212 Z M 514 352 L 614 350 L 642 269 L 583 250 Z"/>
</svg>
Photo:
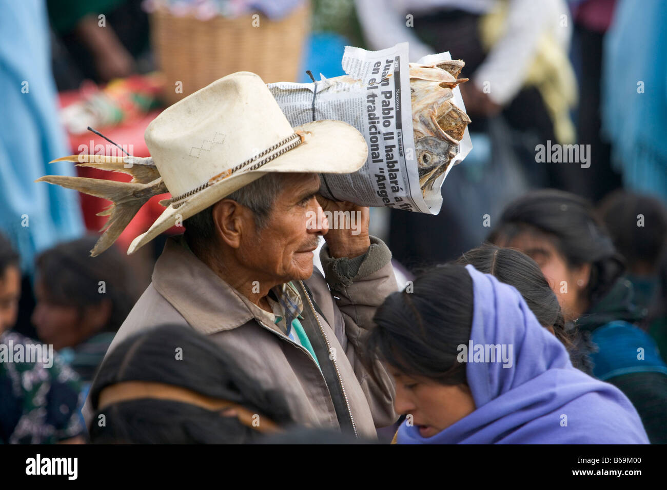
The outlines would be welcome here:
<svg viewBox="0 0 667 490">
<path fill-rule="evenodd" d="M 132 308 L 136 293 L 122 255 L 115 247 L 91 257 L 97 239 L 89 235 L 59 243 L 36 259 L 37 279 L 44 285 L 47 299 L 55 305 L 83 309 L 111 302 L 111 314 L 101 331 L 115 332 Z M 100 281 L 104 293 L 100 293 Z"/>
</svg>

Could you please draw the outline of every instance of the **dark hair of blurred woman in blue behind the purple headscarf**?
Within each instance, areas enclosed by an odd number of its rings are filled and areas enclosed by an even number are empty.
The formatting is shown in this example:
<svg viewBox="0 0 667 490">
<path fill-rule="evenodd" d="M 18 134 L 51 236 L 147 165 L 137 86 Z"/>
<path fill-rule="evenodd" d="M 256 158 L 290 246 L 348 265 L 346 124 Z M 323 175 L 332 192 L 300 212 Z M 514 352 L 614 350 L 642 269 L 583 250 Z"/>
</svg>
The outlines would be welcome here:
<svg viewBox="0 0 667 490">
<path fill-rule="evenodd" d="M 489 241 L 503 245 L 535 231 L 550 238 L 568 266 L 591 265 L 586 288 L 590 306 L 608 293 L 624 271 L 622 257 L 586 199 L 554 189 L 532 191 L 505 208 Z"/>
</svg>

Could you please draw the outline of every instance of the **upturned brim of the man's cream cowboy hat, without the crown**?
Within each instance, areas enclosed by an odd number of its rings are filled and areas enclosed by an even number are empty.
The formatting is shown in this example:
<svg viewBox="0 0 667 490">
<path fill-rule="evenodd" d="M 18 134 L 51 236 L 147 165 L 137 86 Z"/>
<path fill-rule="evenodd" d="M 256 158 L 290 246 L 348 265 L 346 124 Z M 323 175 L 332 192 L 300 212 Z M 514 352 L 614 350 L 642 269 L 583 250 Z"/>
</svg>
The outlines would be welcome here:
<svg viewBox="0 0 667 490">
<path fill-rule="evenodd" d="M 170 204 L 155 223 L 136 237 L 128 254 L 135 252 L 160 233 L 217 203 L 259 177 L 270 172 L 291 173 L 354 173 L 368 156 L 366 139 L 354 127 L 342 121 L 314 121 L 294 128 L 303 131 L 305 139 L 297 147 L 269 161 L 261 170 L 243 171 L 198 191 L 178 207 Z"/>
</svg>

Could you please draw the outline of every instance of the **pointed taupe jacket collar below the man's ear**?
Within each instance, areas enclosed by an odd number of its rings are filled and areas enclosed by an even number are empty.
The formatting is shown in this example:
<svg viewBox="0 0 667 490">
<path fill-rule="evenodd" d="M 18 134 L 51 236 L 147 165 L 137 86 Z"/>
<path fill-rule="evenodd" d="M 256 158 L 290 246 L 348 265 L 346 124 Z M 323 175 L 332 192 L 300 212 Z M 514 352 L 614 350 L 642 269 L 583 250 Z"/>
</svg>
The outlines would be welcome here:
<svg viewBox="0 0 667 490">
<path fill-rule="evenodd" d="M 155 263 L 153 287 L 157 292 L 193 329 L 206 335 L 234 329 L 253 319 L 241 293 L 183 247 L 182 239 L 183 235 L 167 239 Z"/>
</svg>

